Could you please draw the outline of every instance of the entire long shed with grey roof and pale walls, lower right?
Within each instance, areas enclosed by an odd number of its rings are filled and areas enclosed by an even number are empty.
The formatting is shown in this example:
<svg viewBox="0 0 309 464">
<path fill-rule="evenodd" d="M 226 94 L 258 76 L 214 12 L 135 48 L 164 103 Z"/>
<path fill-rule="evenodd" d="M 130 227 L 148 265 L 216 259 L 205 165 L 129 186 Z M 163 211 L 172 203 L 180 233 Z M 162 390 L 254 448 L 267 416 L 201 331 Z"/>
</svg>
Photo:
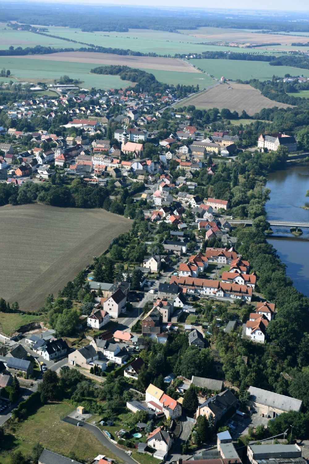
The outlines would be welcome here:
<svg viewBox="0 0 309 464">
<path fill-rule="evenodd" d="M 258 412 L 259 415 L 264 414 L 274 419 L 283 412 L 301 411 L 302 409 L 302 400 L 269 392 L 257 387 L 249 387 L 248 391 L 250 393 L 248 405 Z"/>
</svg>

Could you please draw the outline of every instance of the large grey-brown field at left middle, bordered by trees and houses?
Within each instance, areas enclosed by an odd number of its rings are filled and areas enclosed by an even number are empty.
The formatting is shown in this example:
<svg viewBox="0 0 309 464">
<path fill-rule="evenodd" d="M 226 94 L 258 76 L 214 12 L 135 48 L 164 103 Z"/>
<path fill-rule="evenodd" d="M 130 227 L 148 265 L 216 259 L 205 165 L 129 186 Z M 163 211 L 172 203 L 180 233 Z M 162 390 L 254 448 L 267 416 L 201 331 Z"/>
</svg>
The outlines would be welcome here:
<svg viewBox="0 0 309 464">
<path fill-rule="evenodd" d="M 0 295 L 10 303 L 18 301 L 22 310 L 41 308 L 46 295 L 57 295 L 131 225 L 102 209 L 2 206 L 0 236 L 6 237 L 6 247 Z"/>
</svg>

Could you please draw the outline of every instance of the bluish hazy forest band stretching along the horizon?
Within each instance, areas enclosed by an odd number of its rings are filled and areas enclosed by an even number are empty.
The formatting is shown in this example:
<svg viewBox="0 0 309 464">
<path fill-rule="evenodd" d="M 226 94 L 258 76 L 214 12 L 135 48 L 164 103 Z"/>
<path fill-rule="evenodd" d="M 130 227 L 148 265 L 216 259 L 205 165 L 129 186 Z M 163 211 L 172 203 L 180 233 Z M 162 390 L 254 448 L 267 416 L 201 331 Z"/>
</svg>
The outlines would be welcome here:
<svg viewBox="0 0 309 464">
<path fill-rule="evenodd" d="M 226 15 L 224 10 L 208 11 L 197 9 L 197 14 L 188 13 L 188 9 L 160 9 L 155 12 L 149 7 L 134 6 L 90 6 L 37 4 L 26 2 L 14 5 L 1 2 L 0 15 L 3 22 L 17 21 L 20 23 L 38 24 L 42 26 L 65 26 L 82 28 L 83 31 L 116 31 L 128 32 L 129 29 L 155 29 L 159 31 L 177 32 L 178 29 L 196 29 L 198 27 L 223 27 L 231 29 L 254 29 L 266 32 L 309 32 L 308 15 L 290 12 L 289 18 L 284 12 L 276 15 L 257 14 L 254 11 L 243 11 Z"/>
</svg>

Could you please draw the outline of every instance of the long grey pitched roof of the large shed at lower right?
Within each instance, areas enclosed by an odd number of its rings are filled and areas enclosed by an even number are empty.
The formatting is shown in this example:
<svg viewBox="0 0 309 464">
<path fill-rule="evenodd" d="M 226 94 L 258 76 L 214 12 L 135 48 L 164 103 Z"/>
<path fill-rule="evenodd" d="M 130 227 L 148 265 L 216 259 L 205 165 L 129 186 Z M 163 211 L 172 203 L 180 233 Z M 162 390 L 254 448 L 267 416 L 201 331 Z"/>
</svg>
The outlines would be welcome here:
<svg viewBox="0 0 309 464">
<path fill-rule="evenodd" d="M 251 394 L 251 400 L 255 403 L 275 407 L 282 411 L 300 411 L 302 407 L 302 400 L 279 395 L 278 393 L 269 392 L 262 388 L 249 387 L 249 392 Z"/>
</svg>

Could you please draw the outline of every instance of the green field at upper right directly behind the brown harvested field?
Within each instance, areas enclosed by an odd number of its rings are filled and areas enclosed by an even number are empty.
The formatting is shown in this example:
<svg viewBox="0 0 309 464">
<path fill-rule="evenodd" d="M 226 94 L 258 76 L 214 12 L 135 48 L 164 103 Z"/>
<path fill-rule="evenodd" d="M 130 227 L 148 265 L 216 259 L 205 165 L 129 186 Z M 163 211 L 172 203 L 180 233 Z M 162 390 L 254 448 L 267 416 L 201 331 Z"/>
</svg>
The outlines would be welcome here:
<svg viewBox="0 0 309 464">
<path fill-rule="evenodd" d="M 291 76 L 309 77 L 308 69 L 293 68 L 292 66 L 271 66 L 266 61 L 246 61 L 227 59 L 196 59 L 192 61 L 197 68 L 208 72 L 214 77 L 224 76 L 226 79 L 242 81 L 259 79 L 260 81 L 271 80 L 275 74 L 284 77 Z"/>
</svg>

